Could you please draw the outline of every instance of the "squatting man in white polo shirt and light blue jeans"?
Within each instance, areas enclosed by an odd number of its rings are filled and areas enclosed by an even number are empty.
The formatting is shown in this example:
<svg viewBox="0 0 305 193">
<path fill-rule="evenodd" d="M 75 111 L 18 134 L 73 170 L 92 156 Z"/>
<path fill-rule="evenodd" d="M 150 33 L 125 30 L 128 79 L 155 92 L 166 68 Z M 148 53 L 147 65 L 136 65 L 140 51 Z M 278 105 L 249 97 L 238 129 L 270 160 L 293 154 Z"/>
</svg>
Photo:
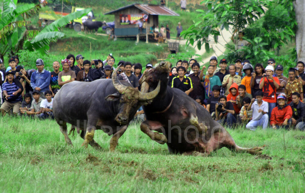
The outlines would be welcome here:
<svg viewBox="0 0 305 193">
<path fill-rule="evenodd" d="M 252 120 L 246 125 L 247 129 L 255 131 L 258 126 L 262 126 L 266 129 L 268 126 L 268 103 L 263 100 L 264 93 L 262 91 L 257 91 L 255 98 L 251 100 L 247 111 L 252 110 Z"/>
</svg>

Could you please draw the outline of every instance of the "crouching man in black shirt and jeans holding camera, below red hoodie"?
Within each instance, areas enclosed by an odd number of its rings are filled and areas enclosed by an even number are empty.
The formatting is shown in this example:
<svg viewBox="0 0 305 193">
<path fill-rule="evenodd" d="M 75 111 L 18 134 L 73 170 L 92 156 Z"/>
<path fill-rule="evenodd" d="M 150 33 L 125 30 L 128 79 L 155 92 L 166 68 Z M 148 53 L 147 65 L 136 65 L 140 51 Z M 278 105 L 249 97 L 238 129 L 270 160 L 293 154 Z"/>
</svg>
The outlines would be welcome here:
<svg viewBox="0 0 305 193">
<path fill-rule="evenodd" d="M 219 103 L 215 104 L 215 115 L 218 123 L 223 125 L 226 123 L 229 128 L 233 128 L 236 123 L 235 111 L 233 104 L 228 101 L 224 95 L 219 96 Z"/>
</svg>

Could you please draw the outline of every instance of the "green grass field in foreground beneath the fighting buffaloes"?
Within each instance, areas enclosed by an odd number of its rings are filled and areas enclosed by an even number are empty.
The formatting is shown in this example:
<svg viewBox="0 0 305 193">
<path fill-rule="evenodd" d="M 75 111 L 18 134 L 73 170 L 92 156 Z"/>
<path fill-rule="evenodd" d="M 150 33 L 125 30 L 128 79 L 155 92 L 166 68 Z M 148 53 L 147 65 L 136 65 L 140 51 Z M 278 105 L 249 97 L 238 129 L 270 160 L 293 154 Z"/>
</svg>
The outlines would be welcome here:
<svg viewBox="0 0 305 193">
<path fill-rule="evenodd" d="M 68 126 L 69 127 L 69 126 Z M 267 147 L 256 157 L 226 148 L 208 157 L 171 155 L 129 126 L 114 153 L 110 137 L 95 132 L 102 150 L 65 144 L 52 120 L 5 116 L 0 121 L 1 192 L 304 192 L 304 132 L 235 129 L 242 147 Z M 270 156 L 272 159 L 268 159 Z"/>
</svg>

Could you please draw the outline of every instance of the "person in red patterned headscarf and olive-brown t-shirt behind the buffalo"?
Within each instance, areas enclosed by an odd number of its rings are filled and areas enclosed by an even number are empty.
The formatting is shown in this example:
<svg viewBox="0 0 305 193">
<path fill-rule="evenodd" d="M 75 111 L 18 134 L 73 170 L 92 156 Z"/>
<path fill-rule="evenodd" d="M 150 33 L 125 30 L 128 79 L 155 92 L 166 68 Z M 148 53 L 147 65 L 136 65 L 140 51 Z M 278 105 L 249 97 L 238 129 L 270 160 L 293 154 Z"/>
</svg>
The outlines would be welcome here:
<svg viewBox="0 0 305 193">
<path fill-rule="evenodd" d="M 71 64 L 70 60 L 61 60 L 61 64 L 63 65 L 63 71 L 59 72 L 58 74 L 58 85 L 60 87 L 62 87 L 66 83 L 73 82 L 76 79 L 74 71 L 69 70 Z"/>
</svg>

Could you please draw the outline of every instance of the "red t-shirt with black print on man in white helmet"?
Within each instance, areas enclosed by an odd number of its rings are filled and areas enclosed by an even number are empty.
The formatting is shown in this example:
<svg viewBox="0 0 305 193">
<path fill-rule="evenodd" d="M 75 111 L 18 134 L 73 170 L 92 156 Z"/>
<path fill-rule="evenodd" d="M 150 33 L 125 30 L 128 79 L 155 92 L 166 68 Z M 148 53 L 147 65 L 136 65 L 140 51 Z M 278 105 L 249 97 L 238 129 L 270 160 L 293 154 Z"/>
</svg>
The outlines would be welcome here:
<svg viewBox="0 0 305 193">
<path fill-rule="evenodd" d="M 267 80 L 267 77 L 264 77 L 264 86 L 263 86 L 263 100 L 268 102 L 268 103 L 276 103 L 276 92 L 274 92 L 275 90 L 275 86 L 273 83 L 273 80 Z M 280 84 L 280 82 L 278 81 L 278 78 L 273 77 L 274 81 L 278 84 Z M 263 81 L 263 78 L 260 80 L 260 82 Z M 266 111 L 265 111 L 266 112 Z"/>
</svg>

